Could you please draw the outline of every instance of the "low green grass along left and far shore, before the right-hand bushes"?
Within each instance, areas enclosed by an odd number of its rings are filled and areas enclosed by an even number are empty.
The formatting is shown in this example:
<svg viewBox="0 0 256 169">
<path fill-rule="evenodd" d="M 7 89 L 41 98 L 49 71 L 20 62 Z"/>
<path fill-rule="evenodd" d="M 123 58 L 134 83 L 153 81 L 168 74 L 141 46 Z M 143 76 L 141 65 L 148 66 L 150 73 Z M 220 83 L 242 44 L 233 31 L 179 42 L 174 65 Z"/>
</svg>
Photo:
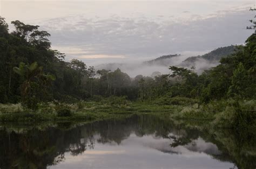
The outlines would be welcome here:
<svg viewBox="0 0 256 169">
<path fill-rule="evenodd" d="M 131 103 L 123 100 L 122 104 L 115 103 L 114 100 L 111 102 L 80 101 L 76 104 L 50 102 L 39 104 L 37 111 L 24 109 L 21 104 L 1 105 L 0 121 L 93 121 L 136 113 L 170 113 L 176 107 L 177 105 Z"/>
</svg>

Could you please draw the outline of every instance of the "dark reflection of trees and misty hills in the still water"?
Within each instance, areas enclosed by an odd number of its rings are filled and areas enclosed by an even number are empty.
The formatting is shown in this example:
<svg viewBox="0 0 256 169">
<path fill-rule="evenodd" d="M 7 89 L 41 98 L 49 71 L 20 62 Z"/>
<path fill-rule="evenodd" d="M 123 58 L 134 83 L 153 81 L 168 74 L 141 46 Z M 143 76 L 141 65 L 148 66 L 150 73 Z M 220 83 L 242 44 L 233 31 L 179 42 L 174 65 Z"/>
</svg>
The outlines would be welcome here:
<svg viewBox="0 0 256 169">
<path fill-rule="evenodd" d="M 220 161 L 231 161 L 238 168 L 255 168 L 255 135 L 227 130 L 205 130 L 204 125 L 186 127 L 169 118 L 152 115 L 132 116 L 121 120 L 98 121 L 72 127 L 59 123 L 47 129 L 2 127 L 0 130 L 0 168 L 47 168 L 65 160 L 65 153 L 78 156 L 93 149 L 95 143 L 122 143 L 134 133 L 170 140 L 168 147 L 154 147 L 165 153 L 180 153 L 176 147 L 204 152 Z M 189 125 L 194 126 L 194 125 Z M 239 135 L 238 135 L 239 134 Z M 202 146 L 204 145 L 204 146 Z"/>
</svg>

